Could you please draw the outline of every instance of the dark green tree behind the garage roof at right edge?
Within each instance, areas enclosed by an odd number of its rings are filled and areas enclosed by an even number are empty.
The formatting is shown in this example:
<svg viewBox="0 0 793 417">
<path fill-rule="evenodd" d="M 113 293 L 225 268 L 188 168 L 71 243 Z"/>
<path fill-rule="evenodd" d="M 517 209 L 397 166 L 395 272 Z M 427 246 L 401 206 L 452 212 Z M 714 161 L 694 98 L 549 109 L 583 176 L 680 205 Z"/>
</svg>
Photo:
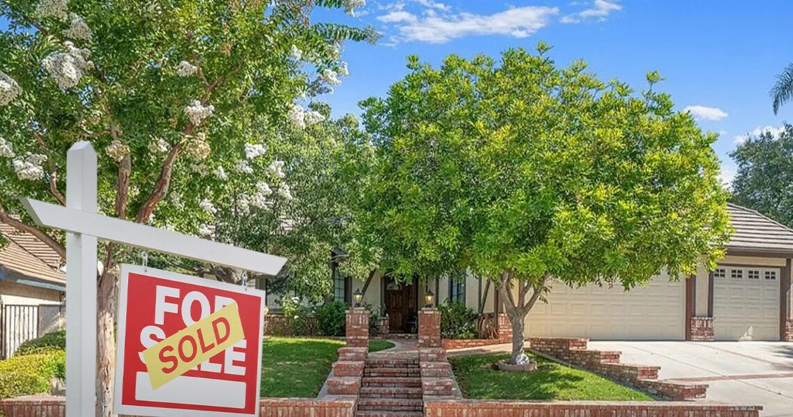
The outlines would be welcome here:
<svg viewBox="0 0 793 417">
<path fill-rule="evenodd" d="M 793 227 L 793 126 L 749 137 L 730 157 L 737 165 L 732 200 Z"/>
</svg>

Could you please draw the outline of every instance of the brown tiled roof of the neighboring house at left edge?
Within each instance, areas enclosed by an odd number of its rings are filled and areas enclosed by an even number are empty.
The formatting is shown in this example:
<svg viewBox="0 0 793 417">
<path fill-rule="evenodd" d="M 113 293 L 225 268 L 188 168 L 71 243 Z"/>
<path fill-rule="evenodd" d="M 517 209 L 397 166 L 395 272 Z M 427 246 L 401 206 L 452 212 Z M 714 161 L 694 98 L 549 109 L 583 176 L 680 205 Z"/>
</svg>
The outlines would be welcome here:
<svg viewBox="0 0 793 417">
<path fill-rule="evenodd" d="M 60 256 L 46 243 L 26 231 L 0 223 L 0 233 L 8 242 L 0 248 L 0 279 L 23 285 L 66 290 L 66 274 L 60 270 Z"/>
</svg>

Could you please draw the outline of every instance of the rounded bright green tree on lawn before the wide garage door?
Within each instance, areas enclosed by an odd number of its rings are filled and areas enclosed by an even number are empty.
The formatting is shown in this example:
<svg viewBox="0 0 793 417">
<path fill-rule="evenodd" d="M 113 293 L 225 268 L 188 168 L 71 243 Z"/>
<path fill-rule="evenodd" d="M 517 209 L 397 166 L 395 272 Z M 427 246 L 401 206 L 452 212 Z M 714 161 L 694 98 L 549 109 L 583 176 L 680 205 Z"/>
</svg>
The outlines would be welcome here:
<svg viewBox="0 0 793 417">
<path fill-rule="evenodd" d="M 716 140 L 667 94 L 602 82 L 577 61 L 511 49 L 408 58 L 364 103 L 380 160 L 363 202 L 385 270 L 495 281 L 528 361 L 524 322 L 554 283 L 646 284 L 713 267 L 729 235 Z"/>
</svg>

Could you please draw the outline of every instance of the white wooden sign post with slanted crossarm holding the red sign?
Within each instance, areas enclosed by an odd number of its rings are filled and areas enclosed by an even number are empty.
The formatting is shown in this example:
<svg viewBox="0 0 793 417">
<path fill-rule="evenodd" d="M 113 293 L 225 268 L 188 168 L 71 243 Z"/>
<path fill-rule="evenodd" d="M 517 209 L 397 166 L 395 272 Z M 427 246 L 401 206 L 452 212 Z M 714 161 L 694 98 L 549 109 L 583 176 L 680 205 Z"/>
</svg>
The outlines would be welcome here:
<svg viewBox="0 0 793 417">
<path fill-rule="evenodd" d="M 102 216 L 97 212 L 97 155 L 89 142 L 67 153 L 66 207 L 22 198 L 36 224 L 66 235 L 66 416 L 94 415 L 96 407 L 97 239 L 275 275 L 286 259 Z"/>
</svg>

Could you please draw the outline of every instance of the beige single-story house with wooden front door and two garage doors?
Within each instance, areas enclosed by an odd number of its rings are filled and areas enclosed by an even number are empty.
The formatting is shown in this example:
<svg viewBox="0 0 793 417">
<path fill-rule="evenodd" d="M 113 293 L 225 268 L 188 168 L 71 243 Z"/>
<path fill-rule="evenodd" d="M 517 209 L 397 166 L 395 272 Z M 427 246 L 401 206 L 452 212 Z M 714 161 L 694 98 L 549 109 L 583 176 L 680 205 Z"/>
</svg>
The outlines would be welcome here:
<svg viewBox="0 0 793 417">
<path fill-rule="evenodd" d="M 676 281 L 662 273 L 630 292 L 557 283 L 548 303 L 538 302 L 529 312 L 527 337 L 793 341 L 793 230 L 754 210 L 728 209 L 735 232 L 716 270 L 701 267 L 695 276 Z M 336 299 L 349 302 L 366 286 L 341 277 L 335 268 L 333 274 Z M 391 331 L 410 332 L 427 291 L 439 302 L 453 299 L 479 312 L 503 311 L 492 285 L 474 277 L 397 285 L 391 277 L 375 274 L 363 301 L 388 312 Z"/>
</svg>

